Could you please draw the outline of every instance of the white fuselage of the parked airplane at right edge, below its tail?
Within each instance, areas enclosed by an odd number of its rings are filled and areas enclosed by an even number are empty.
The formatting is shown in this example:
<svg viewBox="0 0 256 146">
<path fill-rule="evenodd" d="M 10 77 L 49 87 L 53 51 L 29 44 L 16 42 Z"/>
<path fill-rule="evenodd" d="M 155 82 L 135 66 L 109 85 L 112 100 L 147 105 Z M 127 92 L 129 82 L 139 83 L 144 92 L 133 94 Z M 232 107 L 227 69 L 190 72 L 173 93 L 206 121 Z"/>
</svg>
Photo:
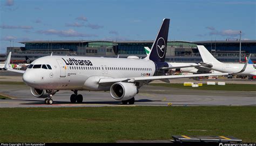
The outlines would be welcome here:
<svg viewBox="0 0 256 146">
<path fill-rule="evenodd" d="M 235 64 L 235 63 L 211 63 L 213 70 L 217 70 L 220 72 L 239 72 L 242 70 L 245 64 Z M 254 68 L 253 64 L 247 64 L 247 67 L 244 72 L 241 72 L 236 75 L 256 75 L 256 68 Z"/>
</svg>

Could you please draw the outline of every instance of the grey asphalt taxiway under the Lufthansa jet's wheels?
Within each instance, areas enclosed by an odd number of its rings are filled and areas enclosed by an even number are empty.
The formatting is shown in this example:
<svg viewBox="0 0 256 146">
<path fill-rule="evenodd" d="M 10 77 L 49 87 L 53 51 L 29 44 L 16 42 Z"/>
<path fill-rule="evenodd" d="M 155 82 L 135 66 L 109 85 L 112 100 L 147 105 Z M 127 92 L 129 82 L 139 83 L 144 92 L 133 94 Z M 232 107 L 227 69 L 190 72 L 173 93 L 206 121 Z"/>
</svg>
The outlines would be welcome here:
<svg viewBox="0 0 256 146">
<path fill-rule="evenodd" d="M 122 105 L 111 98 L 109 91 L 78 91 L 84 97 L 82 104 L 71 104 L 72 91 L 59 91 L 53 104 L 45 105 L 43 98 L 33 97 L 27 85 L 0 85 L 0 94 L 11 99 L 0 100 L 0 107 L 98 107 L 98 106 L 255 106 L 256 92 L 210 91 L 176 89 L 146 85 L 140 88 L 134 105 Z"/>
</svg>

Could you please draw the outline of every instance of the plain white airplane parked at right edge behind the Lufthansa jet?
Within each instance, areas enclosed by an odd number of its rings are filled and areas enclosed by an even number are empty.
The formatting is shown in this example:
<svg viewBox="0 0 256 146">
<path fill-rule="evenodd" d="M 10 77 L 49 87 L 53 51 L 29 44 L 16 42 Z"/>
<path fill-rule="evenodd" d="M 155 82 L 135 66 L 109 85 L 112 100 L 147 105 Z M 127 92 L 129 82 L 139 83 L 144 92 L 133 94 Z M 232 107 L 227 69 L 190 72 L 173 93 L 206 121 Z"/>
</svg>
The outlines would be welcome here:
<svg viewBox="0 0 256 146">
<path fill-rule="evenodd" d="M 215 59 L 204 46 L 198 45 L 197 48 L 204 64 L 208 65 L 206 67 L 209 69 L 220 72 L 235 72 L 234 75 L 256 76 L 256 66 L 254 64 L 247 64 L 250 61 L 251 54 L 245 64 L 222 63 Z M 243 67 L 246 67 L 245 70 L 240 71 Z"/>
</svg>

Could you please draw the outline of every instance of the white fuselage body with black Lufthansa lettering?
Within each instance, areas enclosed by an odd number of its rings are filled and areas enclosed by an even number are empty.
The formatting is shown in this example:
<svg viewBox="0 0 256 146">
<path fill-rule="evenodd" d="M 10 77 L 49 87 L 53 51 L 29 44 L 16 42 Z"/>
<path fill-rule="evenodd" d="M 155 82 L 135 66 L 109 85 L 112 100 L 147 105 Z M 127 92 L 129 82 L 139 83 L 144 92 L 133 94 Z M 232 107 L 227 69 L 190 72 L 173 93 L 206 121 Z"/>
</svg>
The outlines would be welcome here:
<svg viewBox="0 0 256 146">
<path fill-rule="evenodd" d="M 142 59 L 45 56 L 31 63 L 37 64 L 48 64 L 51 69 L 28 68 L 23 81 L 36 89 L 46 90 L 106 91 L 110 85 L 99 85 L 100 78 L 153 76 L 155 72 L 154 62 Z"/>
</svg>

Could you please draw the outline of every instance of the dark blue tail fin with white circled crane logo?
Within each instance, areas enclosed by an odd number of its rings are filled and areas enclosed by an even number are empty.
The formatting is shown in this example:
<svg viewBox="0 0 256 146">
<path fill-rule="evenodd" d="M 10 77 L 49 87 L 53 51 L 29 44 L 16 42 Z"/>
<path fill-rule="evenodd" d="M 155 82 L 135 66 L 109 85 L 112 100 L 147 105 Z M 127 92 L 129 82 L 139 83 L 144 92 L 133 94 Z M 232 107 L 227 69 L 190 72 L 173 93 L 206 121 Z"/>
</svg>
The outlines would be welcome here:
<svg viewBox="0 0 256 146">
<path fill-rule="evenodd" d="M 164 19 L 163 24 L 157 34 L 156 40 L 151 47 L 151 52 L 145 60 L 152 60 L 154 62 L 165 62 L 165 54 L 167 47 L 167 39 L 169 33 L 170 19 Z"/>
</svg>

